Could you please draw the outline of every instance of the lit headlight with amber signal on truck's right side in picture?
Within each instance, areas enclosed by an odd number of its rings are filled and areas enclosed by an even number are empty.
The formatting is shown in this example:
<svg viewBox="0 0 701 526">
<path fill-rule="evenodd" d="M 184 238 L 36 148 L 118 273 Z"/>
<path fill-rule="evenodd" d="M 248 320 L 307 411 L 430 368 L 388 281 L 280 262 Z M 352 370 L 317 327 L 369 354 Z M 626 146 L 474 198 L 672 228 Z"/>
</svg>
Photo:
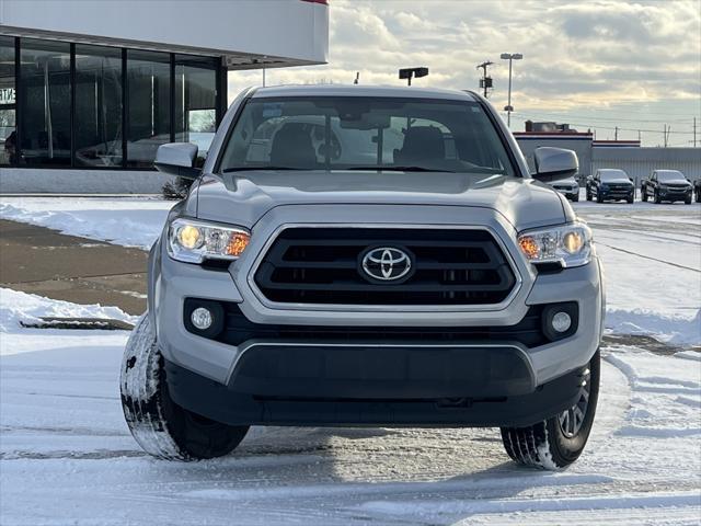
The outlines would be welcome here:
<svg viewBox="0 0 701 526">
<path fill-rule="evenodd" d="M 518 236 L 518 245 L 531 263 L 582 266 L 591 260 L 591 230 L 583 222 L 528 230 Z"/>
</svg>

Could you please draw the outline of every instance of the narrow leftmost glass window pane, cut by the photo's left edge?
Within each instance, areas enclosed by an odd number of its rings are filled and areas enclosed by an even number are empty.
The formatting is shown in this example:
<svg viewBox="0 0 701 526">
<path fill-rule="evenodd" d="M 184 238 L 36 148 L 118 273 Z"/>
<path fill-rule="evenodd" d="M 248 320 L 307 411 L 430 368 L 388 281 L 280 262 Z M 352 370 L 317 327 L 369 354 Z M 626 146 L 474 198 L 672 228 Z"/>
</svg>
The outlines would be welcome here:
<svg viewBox="0 0 701 526">
<path fill-rule="evenodd" d="M 14 38 L 0 36 L 0 167 L 16 163 Z"/>
</svg>

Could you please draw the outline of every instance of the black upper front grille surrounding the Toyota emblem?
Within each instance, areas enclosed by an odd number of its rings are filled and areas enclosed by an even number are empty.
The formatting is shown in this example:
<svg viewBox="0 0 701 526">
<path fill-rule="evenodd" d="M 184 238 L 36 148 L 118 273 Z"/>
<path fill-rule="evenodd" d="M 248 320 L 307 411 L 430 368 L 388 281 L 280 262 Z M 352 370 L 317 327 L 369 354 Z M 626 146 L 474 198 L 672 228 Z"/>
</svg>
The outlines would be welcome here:
<svg viewBox="0 0 701 526">
<path fill-rule="evenodd" d="M 375 282 L 361 258 L 374 247 L 413 255 L 407 278 Z M 516 277 L 486 230 L 289 228 L 255 272 L 271 301 L 335 305 L 492 305 Z"/>
</svg>

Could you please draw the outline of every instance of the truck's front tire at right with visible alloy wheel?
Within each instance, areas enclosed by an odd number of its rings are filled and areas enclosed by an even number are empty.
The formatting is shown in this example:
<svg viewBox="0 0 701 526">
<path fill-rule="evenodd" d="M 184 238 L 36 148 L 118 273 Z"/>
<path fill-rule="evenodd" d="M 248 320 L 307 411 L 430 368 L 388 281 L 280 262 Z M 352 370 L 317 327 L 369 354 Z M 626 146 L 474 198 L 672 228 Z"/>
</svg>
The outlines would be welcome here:
<svg viewBox="0 0 701 526">
<path fill-rule="evenodd" d="M 504 448 L 513 460 L 524 466 L 558 470 L 579 458 L 596 414 L 600 362 L 597 351 L 582 370 L 583 386 L 575 405 L 528 427 L 502 427 Z"/>
</svg>

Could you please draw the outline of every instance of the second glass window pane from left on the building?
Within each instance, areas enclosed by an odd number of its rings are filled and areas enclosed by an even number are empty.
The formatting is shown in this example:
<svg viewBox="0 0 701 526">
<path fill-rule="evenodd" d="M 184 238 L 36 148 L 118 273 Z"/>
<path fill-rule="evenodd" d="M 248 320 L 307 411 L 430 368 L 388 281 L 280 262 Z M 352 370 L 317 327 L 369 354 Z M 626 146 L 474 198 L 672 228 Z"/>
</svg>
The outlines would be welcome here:
<svg viewBox="0 0 701 526">
<path fill-rule="evenodd" d="M 20 43 L 20 163 L 70 164 L 70 45 Z"/>
</svg>

